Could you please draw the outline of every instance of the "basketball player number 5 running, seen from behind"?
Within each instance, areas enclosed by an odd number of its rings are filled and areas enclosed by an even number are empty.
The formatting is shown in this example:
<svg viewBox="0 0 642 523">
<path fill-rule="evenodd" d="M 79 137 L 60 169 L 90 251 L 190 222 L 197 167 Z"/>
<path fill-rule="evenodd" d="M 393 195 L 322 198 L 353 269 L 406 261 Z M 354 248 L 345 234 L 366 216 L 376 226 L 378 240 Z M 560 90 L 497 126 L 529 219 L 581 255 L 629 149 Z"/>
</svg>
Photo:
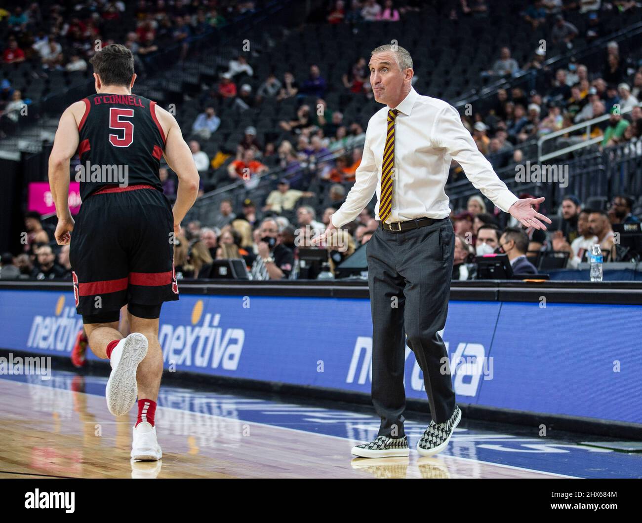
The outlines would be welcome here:
<svg viewBox="0 0 642 523">
<path fill-rule="evenodd" d="M 125 415 L 138 397 L 132 458 L 157 460 L 154 413 L 162 375 L 160 307 L 178 300 L 173 242 L 196 200 L 198 171 L 173 116 L 132 94 L 134 56 L 125 46 L 103 47 L 91 59 L 96 93 L 60 117 L 49 157 L 59 245 L 69 245 L 76 311 L 89 347 L 109 359 L 107 407 Z M 69 160 L 80 155 L 76 180 L 82 206 L 69 212 Z M 162 193 L 164 156 L 178 175 L 173 209 Z M 127 305 L 132 334 L 118 330 Z"/>
</svg>

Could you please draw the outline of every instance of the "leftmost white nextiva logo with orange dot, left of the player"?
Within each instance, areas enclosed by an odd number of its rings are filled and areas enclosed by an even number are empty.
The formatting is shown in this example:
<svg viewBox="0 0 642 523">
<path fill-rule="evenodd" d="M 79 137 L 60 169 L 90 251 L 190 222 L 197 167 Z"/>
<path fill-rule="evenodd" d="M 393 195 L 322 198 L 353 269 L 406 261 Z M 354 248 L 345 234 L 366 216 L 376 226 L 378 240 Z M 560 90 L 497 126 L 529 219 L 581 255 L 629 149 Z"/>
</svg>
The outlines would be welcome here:
<svg viewBox="0 0 642 523">
<path fill-rule="evenodd" d="M 58 298 L 54 313 L 51 316 L 33 316 L 28 348 L 71 352 L 76 334 L 82 327 L 82 318 L 76 316 L 73 305 L 65 307 L 64 295 Z"/>
</svg>

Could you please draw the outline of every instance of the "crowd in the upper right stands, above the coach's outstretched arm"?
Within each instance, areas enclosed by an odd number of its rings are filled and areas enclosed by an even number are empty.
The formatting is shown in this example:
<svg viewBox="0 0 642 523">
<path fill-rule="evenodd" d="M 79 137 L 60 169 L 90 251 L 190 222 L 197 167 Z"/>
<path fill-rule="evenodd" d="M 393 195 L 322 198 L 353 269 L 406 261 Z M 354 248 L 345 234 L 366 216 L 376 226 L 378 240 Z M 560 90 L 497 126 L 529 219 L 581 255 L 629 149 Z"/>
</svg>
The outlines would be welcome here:
<svg viewBox="0 0 642 523">
<path fill-rule="evenodd" d="M 636 3 L 611 3 L 609 6 L 620 11 L 639 8 Z M 546 2 L 535 1 L 524 17 L 534 28 L 551 22 L 551 47 L 572 48 L 573 39 L 579 30 L 565 21 L 565 10 L 580 9 L 586 17 L 583 37 L 590 41 L 605 36 L 600 22 L 605 3 L 600 2 Z M 562 10 L 561 8 L 566 8 Z M 555 15 L 551 13 L 557 12 Z M 548 43 L 548 40 L 546 40 Z M 608 120 L 594 124 L 589 137 L 602 137 L 601 147 L 631 142 L 635 150 L 642 150 L 642 56 L 626 56 L 620 52 L 615 41 L 609 42 L 604 50 L 601 68 L 589 69 L 575 58 L 554 70 L 545 65 L 550 49 L 539 46 L 534 49 L 532 59 L 517 64 L 511 58 L 510 49 L 499 49 L 498 58 L 489 63 L 487 76 L 508 78 L 520 71 L 537 71 L 544 74 L 543 90 L 526 92 L 522 87 L 499 89 L 492 107 L 486 113 L 474 112 L 462 115 L 464 126 L 473 134 L 478 149 L 490 160 L 495 169 L 514 167 L 526 160 L 521 146 L 548 133 L 568 128 L 603 115 Z M 586 132 L 577 130 L 564 134 L 558 139 L 560 146 L 577 144 L 587 139 Z M 462 176 L 458 166 L 452 171 L 453 179 Z"/>
</svg>

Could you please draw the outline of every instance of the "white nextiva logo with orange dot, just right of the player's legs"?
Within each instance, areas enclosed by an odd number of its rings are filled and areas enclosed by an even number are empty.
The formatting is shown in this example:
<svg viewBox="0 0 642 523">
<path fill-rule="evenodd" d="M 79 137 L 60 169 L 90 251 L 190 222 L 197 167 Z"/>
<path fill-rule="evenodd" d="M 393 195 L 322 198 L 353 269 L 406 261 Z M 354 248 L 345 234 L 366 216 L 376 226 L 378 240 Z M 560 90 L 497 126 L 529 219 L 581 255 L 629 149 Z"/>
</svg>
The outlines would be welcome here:
<svg viewBox="0 0 642 523">
<path fill-rule="evenodd" d="M 218 327 L 220 314 L 203 316 L 203 300 L 198 300 L 192 309 L 191 325 L 177 327 L 164 323 L 160 327 L 159 342 L 163 359 L 169 364 L 211 367 L 236 370 L 245 330 Z M 200 325 L 198 323 L 200 322 Z"/>
</svg>

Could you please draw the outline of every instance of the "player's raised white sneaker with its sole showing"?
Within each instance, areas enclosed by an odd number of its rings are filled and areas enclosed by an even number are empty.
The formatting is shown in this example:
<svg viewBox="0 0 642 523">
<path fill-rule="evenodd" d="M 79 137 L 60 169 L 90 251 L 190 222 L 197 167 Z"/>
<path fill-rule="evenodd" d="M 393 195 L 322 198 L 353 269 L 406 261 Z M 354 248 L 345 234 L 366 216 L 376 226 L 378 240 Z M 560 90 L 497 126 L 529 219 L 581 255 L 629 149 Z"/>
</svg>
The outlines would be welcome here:
<svg viewBox="0 0 642 523">
<path fill-rule="evenodd" d="M 128 413 L 138 395 L 136 370 L 147 354 L 147 338 L 140 332 L 132 332 L 121 339 L 112 350 L 110 363 L 112 373 L 107 381 L 107 408 L 114 416 Z"/>
</svg>

